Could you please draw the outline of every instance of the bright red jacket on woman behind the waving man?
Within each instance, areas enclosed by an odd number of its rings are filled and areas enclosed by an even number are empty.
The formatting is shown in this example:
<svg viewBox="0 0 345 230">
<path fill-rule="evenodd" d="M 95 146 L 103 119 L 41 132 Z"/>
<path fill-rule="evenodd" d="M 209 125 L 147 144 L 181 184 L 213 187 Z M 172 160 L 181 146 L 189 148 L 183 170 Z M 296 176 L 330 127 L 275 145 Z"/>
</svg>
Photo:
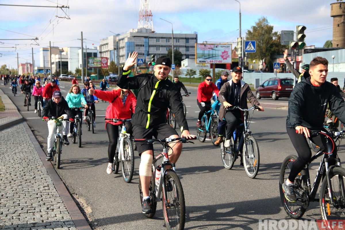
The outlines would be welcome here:
<svg viewBox="0 0 345 230">
<path fill-rule="evenodd" d="M 132 113 L 134 113 L 135 106 L 137 104 L 137 98 L 135 95 L 128 91 L 127 99 L 124 103 L 122 103 L 122 99 L 120 98 L 121 89 L 114 89 L 111 91 L 102 91 L 100 89 L 95 90 L 95 96 L 109 101 L 109 106 L 106 110 L 106 118 L 117 118 L 117 119 L 130 119 Z M 112 122 L 110 120 L 106 120 L 106 124 L 121 124 L 121 122 Z"/>
</svg>

